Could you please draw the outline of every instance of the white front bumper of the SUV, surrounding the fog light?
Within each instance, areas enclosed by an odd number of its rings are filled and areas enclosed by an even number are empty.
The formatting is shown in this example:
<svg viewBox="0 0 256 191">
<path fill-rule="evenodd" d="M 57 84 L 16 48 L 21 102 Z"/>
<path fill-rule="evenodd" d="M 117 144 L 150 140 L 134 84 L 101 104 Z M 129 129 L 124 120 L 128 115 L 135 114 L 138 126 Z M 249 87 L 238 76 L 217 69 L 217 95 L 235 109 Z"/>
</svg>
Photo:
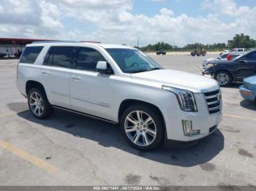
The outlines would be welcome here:
<svg viewBox="0 0 256 191">
<path fill-rule="evenodd" d="M 209 114 L 208 106 L 203 93 L 195 94 L 198 112 L 184 112 L 179 106 L 176 108 L 165 108 L 163 112 L 166 126 L 166 139 L 175 141 L 195 141 L 202 139 L 214 132 L 222 121 L 222 108 L 220 112 Z M 175 111 L 175 112 L 173 112 Z M 185 136 L 182 120 L 192 122 L 193 130 L 200 130 L 199 134 Z"/>
</svg>

